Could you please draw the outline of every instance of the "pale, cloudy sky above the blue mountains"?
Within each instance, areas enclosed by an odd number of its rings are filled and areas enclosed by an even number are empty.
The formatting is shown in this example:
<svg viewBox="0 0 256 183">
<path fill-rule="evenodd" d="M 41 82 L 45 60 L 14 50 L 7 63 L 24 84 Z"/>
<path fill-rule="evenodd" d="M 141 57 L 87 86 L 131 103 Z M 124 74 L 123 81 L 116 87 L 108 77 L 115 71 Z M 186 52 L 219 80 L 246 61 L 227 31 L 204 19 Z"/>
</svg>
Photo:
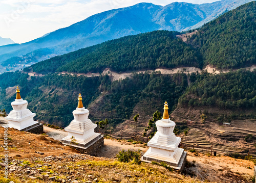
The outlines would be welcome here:
<svg viewBox="0 0 256 183">
<path fill-rule="evenodd" d="M 24 43 L 103 11 L 138 3 L 168 5 L 217 0 L 0 0 L 0 36 Z"/>
</svg>

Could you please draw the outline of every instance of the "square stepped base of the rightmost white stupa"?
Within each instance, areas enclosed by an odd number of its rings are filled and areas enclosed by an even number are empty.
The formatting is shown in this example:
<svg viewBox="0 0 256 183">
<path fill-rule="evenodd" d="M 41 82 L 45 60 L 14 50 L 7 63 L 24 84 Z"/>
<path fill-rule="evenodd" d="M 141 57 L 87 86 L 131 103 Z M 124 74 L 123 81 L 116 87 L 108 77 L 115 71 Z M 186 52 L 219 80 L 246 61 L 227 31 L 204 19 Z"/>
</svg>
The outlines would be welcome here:
<svg viewBox="0 0 256 183">
<path fill-rule="evenodd" d="M 164 162 L 169 167 L 174 168 L 176 171 L 178 171 L 180 173 L 182 173 L 184 171 L 186 160 L 187 160 L 187 152 L 186 151 L 183 151 L 178 164 L 175 164 L 174 162 L 171 162 L 171 161 L 164 161 L 164 160 L 160 160 L 160 159 L 157 159 L 157 158 L 153 158 L 152 156 L 147 156 L 146 153 L 141 158 L 141 161 L 147 162 L 147 163 L 152 163 L 152 162 L 161 163 L 161 162 Z"/>
</svg>

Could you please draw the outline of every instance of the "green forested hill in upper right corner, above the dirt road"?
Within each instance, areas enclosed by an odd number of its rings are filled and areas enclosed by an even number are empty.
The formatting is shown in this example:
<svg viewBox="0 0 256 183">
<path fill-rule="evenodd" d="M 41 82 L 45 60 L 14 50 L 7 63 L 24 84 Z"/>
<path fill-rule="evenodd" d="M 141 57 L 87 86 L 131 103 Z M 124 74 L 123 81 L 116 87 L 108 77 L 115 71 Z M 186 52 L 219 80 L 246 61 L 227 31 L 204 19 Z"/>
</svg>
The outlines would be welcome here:
<svg viewBox="0 0 256 183">
<path fill-rule="evenodd" d="M 228 69 L 256 64 L 255 17 L 253 1 L 205 24 L 187 42 L 198 48 L 204 65 Z"/>
</svg>

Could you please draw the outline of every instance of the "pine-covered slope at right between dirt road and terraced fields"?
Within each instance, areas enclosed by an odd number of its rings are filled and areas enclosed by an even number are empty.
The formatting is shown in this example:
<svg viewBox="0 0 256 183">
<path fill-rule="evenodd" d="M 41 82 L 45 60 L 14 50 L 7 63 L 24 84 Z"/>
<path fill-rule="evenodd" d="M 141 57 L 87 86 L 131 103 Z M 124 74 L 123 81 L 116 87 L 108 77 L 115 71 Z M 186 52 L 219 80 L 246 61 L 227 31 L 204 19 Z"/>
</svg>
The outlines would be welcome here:
<svg viewBox="0 0 256 183">
<path fill-rule="evenodd" d="M 238 70 L 218 75 L 192 74 L 196 81 L 179 101 L 183 106 L 220 109 L 253 109 L 256 106 L 256 72 Z"/>
</svg>

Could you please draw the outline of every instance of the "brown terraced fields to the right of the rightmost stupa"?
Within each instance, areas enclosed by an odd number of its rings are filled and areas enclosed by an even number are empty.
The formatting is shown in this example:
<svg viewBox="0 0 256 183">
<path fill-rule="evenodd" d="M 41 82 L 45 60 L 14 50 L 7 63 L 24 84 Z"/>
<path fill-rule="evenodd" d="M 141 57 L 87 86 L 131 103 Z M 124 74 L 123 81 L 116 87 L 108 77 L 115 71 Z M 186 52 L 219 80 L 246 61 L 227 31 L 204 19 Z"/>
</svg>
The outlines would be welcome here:
<svg viewBox="0 0 256 183">
<path fill-rule="evenodd" d="M 246 142 L 246 137 L 250 136 L 252 140 Z M 256 156 L 254 138 L 256 138 L 256 120 L 234 120 L 230 125 L 207 121 L 205 124 L 191 125 L 188 135 L 182 137 L 182 143 L 190 149 L 195 147 L 199 152 L 210 152 L 212 144 L 212 152 L 217 151 L 219 154 L 249 152 Z"/>
</svg>

